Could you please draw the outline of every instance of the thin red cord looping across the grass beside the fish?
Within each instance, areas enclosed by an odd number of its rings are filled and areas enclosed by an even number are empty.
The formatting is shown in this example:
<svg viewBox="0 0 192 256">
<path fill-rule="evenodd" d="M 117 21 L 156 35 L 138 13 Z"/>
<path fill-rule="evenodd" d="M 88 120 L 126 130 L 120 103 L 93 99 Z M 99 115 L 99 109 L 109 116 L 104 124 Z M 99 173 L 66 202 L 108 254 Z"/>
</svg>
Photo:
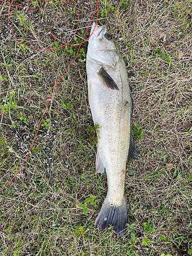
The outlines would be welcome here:
<svg viewBox="0 0 192 256">
<path fill-rule="evenodd" d="M 3 0 L 0 0 L 0 1 L 2 1 L 2 2 L 4 2 L 4 3 L 7 3 L 7 4 L 10 4 L 10 6 L 9 6 L 9 11 L 8 11 L 8 24 L 9 24 L 9 13 L 10 13 L 10 9 L 11 9 L 11 6 L 12 6 L 12 5 L 17 6 L 17 7 L 20 7 L 20 6 L 18 6 L 18 5 L 26 5 L 26 4 L 32 3 L 32 2 L 29 2 L 29 3 L 25 3 L 25 4 L 13 4 L 13 1 L 14 1 L 14 0 L 12 0 L 12 1 L 9 2 L 9 3 L 8 3 L 8 2 L 5 2 L 5 1 L 3 1 Z M 37 0 L 37 1 L 39 1 L 39 0 Z M 71 5 L 72 7 L 74 7 L 72 4 L 68 3 L 67 1 L 65 1 L 65 0 L 62 0 L 62 1 L 63 1 L 63 2 L 66 2 L 67 4 L 69 4 L 69 5 Z M 45 4 L 45 0 L 44 0 L 44 4 Z M 44 4 L 43 4 L 42 6 L 44 6 Z M 38 8 L 41 8 L 42 6 L 40 6 L 40 7 L 38 7 Z M 20 8 L 24 8 L 24 7 L 20 7 Z M 32 9 L 38 9 L 38 8 L 27 8 L 27 9 L 32 10 Z M 31 147 L 30 147 L 30 149 L 29 149 L 29 151 L 28 151 L 28 153 L 27 153 L 27 155 L 26 155 L 26 157 L 25 157 L 25 159 L 24 159 L 22 165 L 19 167 L 19 169 L 17 170 L 17 172 L 15 173 L 15 175 L 13 176 L 13 178 L 9 181 L 9 183 L 7 183 L 7 185 L 6 185 L 5 187 L 3 187 L 2 189 L 0 189 L 0 191 L 2 191 L 4 188 L 6 188 L 6 187 L 11 183 L 11 181 L 12 181 L 12 180 L 15 178 L 15 176 L 18 174 L 20 168 L 22 168 L 22 166 L 24 165 L 24 163 L 25 163 L 25 161 L 26 161 L 26 159 L 27 159 L 27 157 L 28 157 L 28 155 L 29 155 L 29 153 L 30 153 L 30 151 L 31 151 L 31 148 L 32 148 L 32 146 L 33 146 L 33 143 L 34 143 L 34 141 L 35 141 L 35 139 L 36 139 L 36 137 L 37 137 L 37 134 L 38 134 L 38 131 L 39 131 L 39 128 L 40 128 L 42 119 L 44 119 L 44 116 L 45 116 L 45 113 L 46 113 L 46 110 L 47 110 L 47 106 L 48 106 L 48 104 L 49 104 L 49 100 L 50 100 L 50 97 L 51 97 L 51 93 L 52 93 L 53 88 L 56 86 L 56 84 L 58 83 L 58 81 L 59 81 L 59 80 L 61 79 L 61 77 L 66 73 L 66 71 L 68 70 L 68 68 L 71 66 L 71 64 L 72 64 L 73 61 L 75 60 L 75 58 L 76 58 L 76 56 L 77 56 L 77 54 L 78 54 L 78 52 L 79 52 L 79 49 L 80 49 L 81 45 L 82 45 L 84 42 L 86 42 L 86 41 L 90 38 L 90 36 L 93 34 L 93 33 L 92 33 L 86 40 L 84 40 L 84 36 L 86 35 L 86 33 L 87 33 L 87 31 L 88 31 L 88 28 L 89 28 L 89 26 L 90 26 L 90 23 L 91 23 L 91 20 L 92 20 L 92 18 L 93 18 L 93 15 L 94 15 L 94 13 L 95 13 L 96 8 L 97 8 L 97 19 L 96 19 L 96 25 L 97 25 L 97 20 L 98 20 L 98 0 L 96 0 L 96 5 L 95 5 L 95 8 L 94 8 L 93 14 L 92 14 L 92 16 L 91 16 L 89 25 L 88 25 L 88 27 L 87 27 L 87 29 L 86 29 L 86 32 L 84 33 L 83 38 L 82 38 L 80 44 L 77 44 L 77 45 L 79 45 L 79 48 L 78 48 L 78 50 L 77 50 L 77 53 L 76 53 L 75 57 L 74 57 L 73 60 L 70 62 L 70 64 L 69 64 L 69 66 L 67 67 L 67 69 L 66 69 L 66 70 L 62 73 L 62 75 L 59 77 L 59 79 L 55 82 L 54 86 L 51 88 L 51 91 L 50 91 L 50 94 L 49 94 L 49 98 L 48 98 L 48 101 L 47 101 L 47 105 L 46 105 L 44 114 L 42 115 L 42 118 L 41 118 L 41 120 L 40 120 L 38 129 L 37 129 L 37 132 L 36 132 L 35 137 L 34 137 L 34 139 L 33 139 L 33 142 L 32 142 L 32 144 L 31 144 Z M 75 11 L 77 12 L 76 9 L 75 9 Z M 77 15 L 78 15 L 78 24 L 77 24 L 77 28 L 78 28 L 78 25 L 79 25 L 79 14 L 78 14 L 78 12 L 77 12 Z M 95 28 L 96 28 L 96 25 L 95 25 Z M 76 28 L 76 30 L 75 30 L 75 33 L 76 33 L 76 31 L 77 31 L 77 28 Z M 95 28 L 94 28 L 94 30 L 95 30 Z M 10 24 L 9 24 L 9 29 L 11 30 Z M 49 31 L 48 31 L 48 32 L 49 32 Z M 94 31 L 93 31 L 93 32 L 94 32 Z M 12 30 L 11 30 L 11 33 L 13 34 Z M 49 33 L 50 33 L 50 32 L 49 32 Z M 75 33 L 74 33 L 74 35 L 72 36 L 72 38 L 75 36 Z M 52 35 L 52 34 L 50 33 L 50 35 Z M 16 39 L 17 41 L 19 41 L 19 40 L 16 38 L 16 36 L 15 36 L 14 34 L 13 34 L 13 36 L 15 37 L 15 39 Z M 53 36 L 55 39 L 57 39 L 54 35 L 52 35 L 52 36 Z M 72 39 L 72 38 L 71 38 L 71 39 Z M 58 39 L 57 39 L 57 40 L 58 40 Z M 59 40 L 59 41 L 60 41 L 60 40 Z M 19 41 L 19 42 L 20 42 L 21 44 L 25 45 L 23 42 L 21 42 L 21 41 Z M 77 45 L 70 45 L 68 42 L 63 42 L 63 43 L 64 43 L 64 45 L 62 45 L 62 46 L 60 46 L 60 47 L 57 47 L 57 48 L 49 48 L 49 49 L 38 49 L 38 48 L 30 47 L 30 46 L 28 46 L 28 47 L 29 47 L 29 48 L 32 48 L 32 49 L 35 49 L 35 50 L 53 50 L 53 49 L 61 48 L 61 47 L 65 46 L 65 45 L 77 46 Z M 26 46 L 26 45 L 25 45 L 25 46 Z"/>
</svg>

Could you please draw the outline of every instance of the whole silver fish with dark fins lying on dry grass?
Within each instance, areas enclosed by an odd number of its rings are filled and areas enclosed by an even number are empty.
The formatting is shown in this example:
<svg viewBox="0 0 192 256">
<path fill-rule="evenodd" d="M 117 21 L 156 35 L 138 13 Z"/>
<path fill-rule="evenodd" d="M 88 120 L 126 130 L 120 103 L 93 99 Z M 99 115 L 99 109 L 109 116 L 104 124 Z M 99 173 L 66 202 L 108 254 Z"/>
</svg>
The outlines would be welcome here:
<svg viewBox="0 0 192 256">
<path fill-rule="evenodd" d="M 86 70 L 89 105 L 98 127 L 96 173 L 105 169 L 108 180 L 95 226 L 104 230 L 111 224 L 122 237 L 127 223 L 126 163 L 137 156 L 131 132 L 133 99 L 125 62 L 106 25 L 93 23 L 90 35 Z"/>
</svg>

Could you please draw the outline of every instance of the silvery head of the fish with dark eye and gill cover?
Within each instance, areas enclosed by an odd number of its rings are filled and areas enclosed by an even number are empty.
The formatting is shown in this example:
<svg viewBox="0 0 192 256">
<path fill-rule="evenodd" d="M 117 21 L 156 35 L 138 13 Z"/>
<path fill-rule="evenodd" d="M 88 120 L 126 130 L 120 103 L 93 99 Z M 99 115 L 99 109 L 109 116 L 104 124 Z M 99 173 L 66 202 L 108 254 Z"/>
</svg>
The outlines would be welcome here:
<svg viewBox="0 0 192 256">
<path fill-rule="evenodd" d="M 115 67 L 120 53 L 106 25 L 93 23 L 90 35 L 87 55 L 100 65 Z"/>
</svg>

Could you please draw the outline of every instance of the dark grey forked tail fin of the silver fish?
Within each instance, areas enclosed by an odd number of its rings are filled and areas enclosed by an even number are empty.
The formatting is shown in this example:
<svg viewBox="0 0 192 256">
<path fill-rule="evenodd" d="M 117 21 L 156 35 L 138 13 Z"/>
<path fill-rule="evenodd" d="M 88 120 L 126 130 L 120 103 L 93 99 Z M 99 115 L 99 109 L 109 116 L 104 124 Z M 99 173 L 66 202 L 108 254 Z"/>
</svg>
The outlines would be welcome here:
<svg viewBox="0 0 192 256">
<path fill-rule="evenodd" d="M 111 204 L 109 199 L 106 197 L 99 215 L 95 220 L 95 226 L 105 229 L 109 224 L 113 226 L 116 233 L 122 237 L 126 232 L 127 223 L 127 207 L 126 197 L 123 197 L 123 203 L 121 205 Z"/>
</svg>

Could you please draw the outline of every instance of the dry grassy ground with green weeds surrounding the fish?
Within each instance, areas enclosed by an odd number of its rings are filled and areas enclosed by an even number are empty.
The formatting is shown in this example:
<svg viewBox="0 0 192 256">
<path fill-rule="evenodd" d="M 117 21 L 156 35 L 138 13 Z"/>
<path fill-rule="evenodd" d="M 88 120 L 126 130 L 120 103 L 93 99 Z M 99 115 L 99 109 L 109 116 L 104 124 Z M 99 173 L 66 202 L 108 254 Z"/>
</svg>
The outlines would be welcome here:
<svg viewBox="0 0 192 256">
<path fill-rule="evenodd" d="M 75 44 L 95 1 L 70 3 L 81 19 Z M 22 164 L 50 90 L 78 49 L 20 44 L 9 30 L 8 10 L 1 2 L 1 188 Z M 123 55 L 134 101 L 139 154 L 126 170 L 125 236 L 111 226 L 94 227 L 107 184 L 105 173 L 95 175 L 97 127 L 88 102 L 85 42 L 53 89 L 26 162 L 0 193 L 0 255 L 192 254 L 191 15 L 191 1 L 99 1 L 98 24 L 108 26 Z M 74 9 L 57 0 L 36 10 L 12 6 L 9 18 L 18 39 L 39 49 L 62 45 L 46 29 L 66 41 L 77 23 Z"/>
</svg>

